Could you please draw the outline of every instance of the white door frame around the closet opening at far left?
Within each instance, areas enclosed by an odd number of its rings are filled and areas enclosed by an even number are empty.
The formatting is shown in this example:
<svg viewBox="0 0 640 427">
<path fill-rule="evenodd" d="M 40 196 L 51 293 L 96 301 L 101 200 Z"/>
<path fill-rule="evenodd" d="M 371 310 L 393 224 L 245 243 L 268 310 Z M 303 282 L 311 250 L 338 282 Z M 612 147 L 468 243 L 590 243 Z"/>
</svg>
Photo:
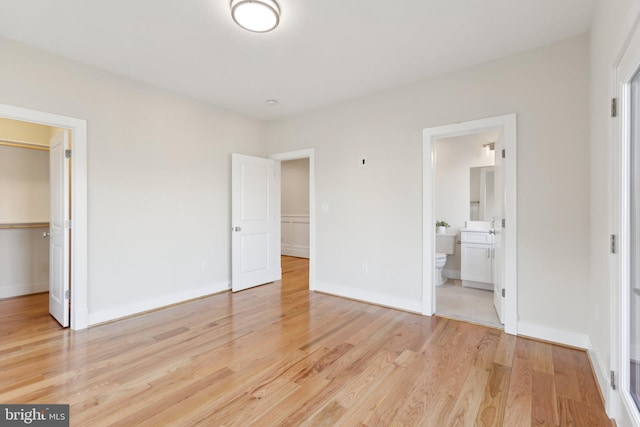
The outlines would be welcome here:
<svg viewBox="0 0 640 427">
<path fill-rule="evenodd" d="M 71 131 L 71 329 L 89 325 L 87 304 L 87 121 L 0 104 L 0 117 Z"/>
</svg>

